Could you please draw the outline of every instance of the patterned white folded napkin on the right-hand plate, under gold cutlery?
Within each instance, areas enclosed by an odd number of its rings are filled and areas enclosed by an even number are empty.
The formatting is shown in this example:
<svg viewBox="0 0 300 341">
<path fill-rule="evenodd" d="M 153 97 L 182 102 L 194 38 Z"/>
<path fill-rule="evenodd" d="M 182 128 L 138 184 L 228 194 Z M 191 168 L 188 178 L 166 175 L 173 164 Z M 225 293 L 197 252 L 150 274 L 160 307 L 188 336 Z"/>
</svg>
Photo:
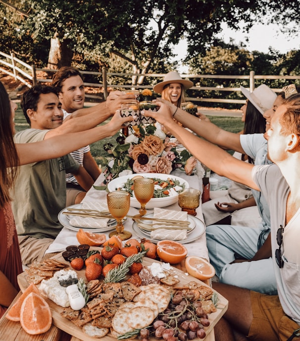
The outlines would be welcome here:
<svg viewBox="0 0 300 341">
<path fill-rule="evenodd" d="M 154 207 L 153 218 L 156 219 L 170 219 L 186 222 L 188 220 L 188 213 L 182 211 L 166 210 L 163 208 Z M 164 225 L 161 228 L 151 231 L 150 237 L 156 240 L 184 240 L 187 239 L 186 229 L 165 229 Z M 168 226 L 170 227 L 170 226 Z"/>
</svg>

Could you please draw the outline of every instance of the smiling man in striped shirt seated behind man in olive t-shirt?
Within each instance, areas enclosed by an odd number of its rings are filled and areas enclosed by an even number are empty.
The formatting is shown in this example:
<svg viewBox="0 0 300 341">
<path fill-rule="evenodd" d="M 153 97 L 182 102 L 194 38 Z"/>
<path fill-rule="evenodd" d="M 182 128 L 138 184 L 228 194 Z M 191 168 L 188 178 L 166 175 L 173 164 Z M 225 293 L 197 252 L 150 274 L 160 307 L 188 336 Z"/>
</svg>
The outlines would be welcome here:
<svg viewBox="0 0 300 341">
<path fill-rule="evenodd" d="M 63 66 L 55 74 L 52 85 L 59 90 L 59 100 L 63 111 L 63 118 L 82 109 L 85 100 L 85 91 L 82 76 L 78 69 L 72 66 Z M 84 167 L 91 183 L 94 183 L 101 171 L 94 160 L 90 146 L 80 148 L 72 157 Z M 67 199 L 66 206 L 79 204 L 86 195 L 86 191 L 79 185 L 73 174 L 66 174 Z"/>
</svg>

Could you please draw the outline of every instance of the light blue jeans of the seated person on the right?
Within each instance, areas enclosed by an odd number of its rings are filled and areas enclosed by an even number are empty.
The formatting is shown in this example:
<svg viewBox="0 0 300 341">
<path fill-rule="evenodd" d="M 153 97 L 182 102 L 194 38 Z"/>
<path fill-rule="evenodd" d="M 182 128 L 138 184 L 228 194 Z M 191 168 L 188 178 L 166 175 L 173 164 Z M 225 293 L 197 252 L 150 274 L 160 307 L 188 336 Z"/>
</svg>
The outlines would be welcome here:
<svg viewBox="0 0 300 341">
<path fill-rule="evenodd" d="M 236 254 L 251 259 L 257 252 L 261 228 L 210 225 L 206 227 L 206 243 L 210 263 L 221 283 L 250 290 L 277 294 L 272 258 L 234 263 Z M 266 238 L 267 234 L 265 235 Z"/>
</svg>

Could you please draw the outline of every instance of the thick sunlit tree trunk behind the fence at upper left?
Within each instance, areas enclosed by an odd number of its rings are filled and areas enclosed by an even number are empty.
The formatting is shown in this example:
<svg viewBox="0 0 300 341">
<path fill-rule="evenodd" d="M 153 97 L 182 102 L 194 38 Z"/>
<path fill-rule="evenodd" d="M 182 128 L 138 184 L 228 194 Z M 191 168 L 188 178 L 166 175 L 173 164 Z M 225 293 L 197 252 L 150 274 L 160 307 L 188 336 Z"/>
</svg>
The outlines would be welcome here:
<svg viewBox="0 0 300 341">
<path fill-rule="evenodd" d="M 48 57 L 48 68 L 57 70 L 61 66 L 70 66 L 72 62 L 72 50 L 68 46 L 68 41 L 61 41 L 55 33 L 51 38 L 50 51 Z"/>
</svg>

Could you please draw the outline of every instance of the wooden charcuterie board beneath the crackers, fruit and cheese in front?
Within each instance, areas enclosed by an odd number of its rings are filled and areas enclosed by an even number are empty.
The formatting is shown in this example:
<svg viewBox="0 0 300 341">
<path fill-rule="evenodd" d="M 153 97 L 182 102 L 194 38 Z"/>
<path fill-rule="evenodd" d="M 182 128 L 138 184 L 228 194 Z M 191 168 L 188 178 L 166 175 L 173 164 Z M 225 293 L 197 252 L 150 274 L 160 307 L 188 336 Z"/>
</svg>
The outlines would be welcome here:
<svg viewBox="0 0 300 341">
<path fill-rule="evenodd" d="M 97 247 L 92 247 L 91 249 L 95 249 L 95 250 L 99 249 L 100 250 L 100 248 L 97 248 Z M 56 258 L 59 261 L 64 262 L 64 263 L 69 265 L 69 263 L 63 259 L 61 253 L 57 254 L 53 258 Z M 144 257 L 144 259 L 143 259 L 143 265 L 144 266 L 151 265 L 153 262 L 160 263 L 159 261 L 150 259 L 148 257 Z M 78 274 L 78 278 L 82 277 L 82 278 L 84 278 L 85 282 L 87 282 L 86 277 L 85 277 L 85 268 L 82 269 L 81 271 L 77 271 L 77 274 Z M 191 281 L 195 281 L 195 282 L 200 283 L 201 285 L 208 286 L 208 285 L 204 284 L 203 282 L 195 279 L 194 277 L 188 275 L 187 273 L 184 273 L 183 271 L 181 271 L 177 268 L 174 268 L 174 267 L 172 267 L 170 274 L 178 276 L 180 283 L 176 284 L 176 286 L 180 286 L 180 285 L 189 283 Z M 19 284 L 22 291 L 24 291 L 29 285 L 26 278 L 27 278 L 26 272 L 24 272 L 18 276 L 18 284 Z M 38 287 L 39 287 L 39 285 L 38 285 Z M 227 310 L 227 307 L 228 307 L 228 301 L 223 296 L 218 294 L 218 298 L 219 298 L 219 300 L 218 300 L 217 311 L 214 313 L 208 314 L 208 319 L 210 321 L 210 325 L 208 327 L 204 328 L 206 336 L 210 333 L 210 331 L 213 329 L 213 327 L 216 325 L 216 323 L 220 320 L 220 318 L 223 316 L 223 314 L 225 313 L 225 311 Z M 66 332 L 66 333 L 68 333 L 68 334 L 70 334 L 70 335 L 72 335 L 72 336 L 74 336 L 80 340 L 84 340 L 84 341 L 95 341 L 96 340 L 96 338 L 89 337 L 87 334 L 83 333 L 82 328 L 77 327 L 71 321 L 62 317 L 60 315 L 60 313 L 62 312 L 63 307 L 55 304 L 53 301 L 51 301 L 47 297 L 45 297 L 45 299 L 48 302 L 50 309 L 51 309 L 51 312 L 52 312 L 53 324 L 57 328 L 63 330 L 64 332 Z M 150 338 L 150 339 L 152 339 L 153 341 L 155 340 L 154 338 Z M 110 333 L 107 334 L 106 336 L 104 336 L 103 338 L 99 339 L 99 340 L 116 341 L 116 339 L 113 336 L 111 336 Z M 194 339 L 194 340 L 200 341 L 200 339 Z M 205 339 L 201 339 L 201 340 L 205 340 Z"/>
</svg>

